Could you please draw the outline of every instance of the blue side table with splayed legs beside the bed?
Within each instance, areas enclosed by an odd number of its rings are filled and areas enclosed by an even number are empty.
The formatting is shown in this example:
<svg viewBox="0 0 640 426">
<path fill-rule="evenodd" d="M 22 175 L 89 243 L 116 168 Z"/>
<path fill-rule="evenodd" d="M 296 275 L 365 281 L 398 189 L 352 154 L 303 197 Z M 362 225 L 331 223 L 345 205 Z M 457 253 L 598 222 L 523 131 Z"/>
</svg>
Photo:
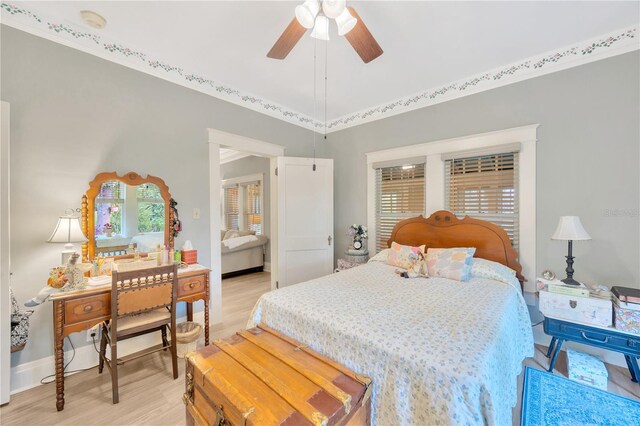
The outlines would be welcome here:
<svg viewBox="0 0 640 426">
<path fill-rule="evenodd" d="M 614 328 L 579 324 L 557 318 L 544 318 L 544 332 L 552 337 L 547 358 L 551 357 L 549 371 L 553 371 L 562 344 L 566 341 L 582 343 L 597 348 L 620 352 L 627 361 L 631 381 L 640 380 L 638 358 L 640 357 L 640 336 L 625 333 Z"/>
</svg>

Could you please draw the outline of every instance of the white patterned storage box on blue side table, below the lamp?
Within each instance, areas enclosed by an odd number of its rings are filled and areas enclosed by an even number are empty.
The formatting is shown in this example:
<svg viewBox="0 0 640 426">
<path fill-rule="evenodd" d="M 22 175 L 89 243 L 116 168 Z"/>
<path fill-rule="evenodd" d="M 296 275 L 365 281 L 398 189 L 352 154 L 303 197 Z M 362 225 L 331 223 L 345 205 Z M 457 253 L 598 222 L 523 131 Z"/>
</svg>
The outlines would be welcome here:
<svg viewBox="0 0 640 426">
<path fill-rule="evenodd" d="M 611 300 L 595 297 L 577 297 L 540 290 L 540 312 L 545 316 L 611 327 L 613 308 Z"/>
</svg>

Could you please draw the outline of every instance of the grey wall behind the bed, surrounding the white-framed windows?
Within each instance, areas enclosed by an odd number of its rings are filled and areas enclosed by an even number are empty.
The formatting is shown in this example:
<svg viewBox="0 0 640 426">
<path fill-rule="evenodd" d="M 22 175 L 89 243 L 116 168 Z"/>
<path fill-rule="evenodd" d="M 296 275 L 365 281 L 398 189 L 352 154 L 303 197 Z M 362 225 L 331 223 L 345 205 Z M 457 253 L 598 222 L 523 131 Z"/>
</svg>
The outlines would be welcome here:
<svg viewBox="0 0 640 426">
<path fill-rule="evenodd" d="M 574 244 L 575 277 L 640 288 L 639 58 L 635 51 L 331 133 L 336 258 L 347 227 L 367 220 L 367 152 L 538 123 L 538 272 L 564 274 L 567 245 L 550 237 L 560 216 L 578 215 L 593 240 Z"/>
</svg>

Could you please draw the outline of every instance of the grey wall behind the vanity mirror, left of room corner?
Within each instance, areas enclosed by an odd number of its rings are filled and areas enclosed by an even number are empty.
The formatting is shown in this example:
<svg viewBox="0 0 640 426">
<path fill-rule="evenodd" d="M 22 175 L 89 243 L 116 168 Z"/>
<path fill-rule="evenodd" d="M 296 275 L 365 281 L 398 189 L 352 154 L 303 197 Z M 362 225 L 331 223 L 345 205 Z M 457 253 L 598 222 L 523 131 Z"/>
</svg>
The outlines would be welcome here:
<svg viewBox="0 0 640 426">
<path fill-rule="evenodd" d="M 282 145 L 287 155 L 312 152 L 301 142 L 312 132 L 264 114 L 4 25 L 1 43 L 2 100 L 11 104 L 11 282 L 20 302 L 46 285 L 49 268 L 60 262 L 62 247 L 45 241 L 65 209 L 80 207 L 96 174 L 164 179 L 184 229 L 176 247 L 191 240 L 199 262 L 209 265 L 206 129 Z M 50 303 L 31 317 L 31 336 L 12 365 L 53 354 Z M 83 333 L 71 338 L 87 345 Z"/>
</svg>

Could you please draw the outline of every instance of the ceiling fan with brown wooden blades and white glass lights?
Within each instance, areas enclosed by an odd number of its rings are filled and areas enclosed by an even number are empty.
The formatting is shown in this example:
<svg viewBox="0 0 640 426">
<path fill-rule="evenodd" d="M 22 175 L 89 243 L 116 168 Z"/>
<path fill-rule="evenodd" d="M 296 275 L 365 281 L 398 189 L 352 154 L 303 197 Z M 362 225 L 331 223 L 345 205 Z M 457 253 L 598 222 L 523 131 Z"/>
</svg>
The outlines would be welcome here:
<svg viewBox="0 0 640 426">
<path fill-rule="evenodd" d="M 382 48 L 362 22 L 362 18 L 352 7 L 347 7 L 346 3 L 346 0 L 305 0 L 303 4 L 296 6 L 295 18 L 267 53 L 267 57 L 286 58 L 311 28 L 311 37 L 329 40 L 330 19 L 335 20 L 338 35 L 345 36 L 365 64 L 382 55 Z"/>
</svg>

